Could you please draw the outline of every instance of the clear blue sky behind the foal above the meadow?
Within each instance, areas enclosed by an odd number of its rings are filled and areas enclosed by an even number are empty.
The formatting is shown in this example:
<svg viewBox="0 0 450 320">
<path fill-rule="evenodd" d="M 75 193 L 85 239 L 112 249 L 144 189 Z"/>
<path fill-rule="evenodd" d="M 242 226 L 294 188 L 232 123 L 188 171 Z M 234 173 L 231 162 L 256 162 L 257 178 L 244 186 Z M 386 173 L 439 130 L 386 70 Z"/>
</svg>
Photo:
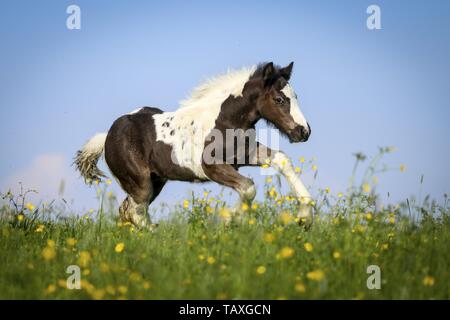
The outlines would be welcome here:
<svg viewBox="0 0 450 320">
<path fill-rule="evenodd" d="M 70 4 L 81 30 L 66 28 Z M 381 30 L 366 28 L 370 4 Z M 344 191 L 354 152 L 392 145 L 385 162 L 407 170 L 380 175 L 382 194 L 450 191 L 448 1 L 4 1 L 0 39 L 1 191 L 21 180 L 51 198 L 65 179 L 74 206 L 93 206 L 95 190 L 70 167 L 86 139 L 140 106 L 175 110 L 202 79 L 261 61 L 295 61 L 312 136 L 281 148 L 317 158 L 315 187 Z M 257 169 L 244 173 L 261 186 Z M 155 204 L 203 188 L 220 191 L 173 182 Z"/>
</svg>

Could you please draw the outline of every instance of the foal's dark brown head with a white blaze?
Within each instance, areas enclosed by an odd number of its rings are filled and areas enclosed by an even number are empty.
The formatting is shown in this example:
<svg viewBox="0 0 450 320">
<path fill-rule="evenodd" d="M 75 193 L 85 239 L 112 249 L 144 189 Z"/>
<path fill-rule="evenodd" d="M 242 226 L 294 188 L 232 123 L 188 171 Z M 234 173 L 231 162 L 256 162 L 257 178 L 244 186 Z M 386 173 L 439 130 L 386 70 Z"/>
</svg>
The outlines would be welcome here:
<svg viewBox="0 0 450 320">
<path fill-rule="evenodd" d="M 311 134 L 311 128 L 289 84 L 293 66 L 293 62 L 285 68 L 277 68 L 272 62 L 262 66 L 259 74 L 262 92 L 256 107 L 261 117 L 286 134 L 290 142 L 305 142 Z"/>
</svg>

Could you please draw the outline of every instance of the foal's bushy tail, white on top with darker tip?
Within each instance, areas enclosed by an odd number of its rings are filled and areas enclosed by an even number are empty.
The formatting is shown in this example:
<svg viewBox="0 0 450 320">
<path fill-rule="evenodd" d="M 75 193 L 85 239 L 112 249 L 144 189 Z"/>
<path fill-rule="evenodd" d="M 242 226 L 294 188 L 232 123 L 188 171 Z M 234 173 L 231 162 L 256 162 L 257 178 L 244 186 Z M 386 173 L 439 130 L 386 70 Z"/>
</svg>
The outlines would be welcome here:
<svg viewBox="0 0 450 320">
<path fill-rule="evenodd" d="M 87 184 L 105 177 L 105 174 L 97 167 L 98 159 L 103 154 L 106 141 L 106 133 L 97 133 L 86 142 L 77 152 L 74 164 Z"/>
</svg>

